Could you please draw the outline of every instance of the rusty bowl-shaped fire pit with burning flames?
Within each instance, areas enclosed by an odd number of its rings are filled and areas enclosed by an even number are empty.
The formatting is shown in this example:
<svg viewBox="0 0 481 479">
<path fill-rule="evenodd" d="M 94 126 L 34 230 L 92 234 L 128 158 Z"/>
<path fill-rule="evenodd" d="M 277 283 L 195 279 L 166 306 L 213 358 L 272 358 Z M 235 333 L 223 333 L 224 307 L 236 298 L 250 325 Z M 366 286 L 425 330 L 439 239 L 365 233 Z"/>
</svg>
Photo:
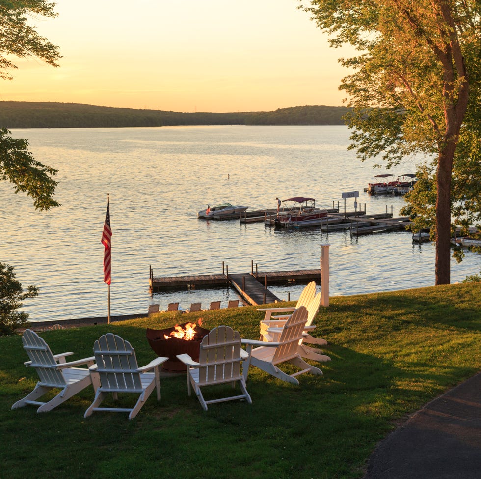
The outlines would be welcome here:
<svg viewBox="0 0 481 479">
<path fill-rule="evenodd" d="M 162 364 L 168 372 L 185 372 L 186 365 L 177 359 L 178 354 L 187 353 L 194 361 L 199 361 L 200 342 L 209 334 L 208 329 L 195 323 L 176 324 L 167 329 L 147 328 L 147 340 L 158 356 L 169 359 Z"/>
</svg>

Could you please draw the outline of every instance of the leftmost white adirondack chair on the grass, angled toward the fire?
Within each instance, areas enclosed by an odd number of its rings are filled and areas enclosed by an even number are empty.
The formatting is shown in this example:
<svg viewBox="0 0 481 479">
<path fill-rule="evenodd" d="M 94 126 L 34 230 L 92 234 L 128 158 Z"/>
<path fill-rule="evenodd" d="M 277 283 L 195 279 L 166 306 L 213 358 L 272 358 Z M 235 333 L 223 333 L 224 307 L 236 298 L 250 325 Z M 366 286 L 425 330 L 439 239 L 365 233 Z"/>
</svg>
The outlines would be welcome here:
<svg viewBox="0 0 481 479">
<path fill-rule="evenodd" d="M 37 382 L 34 390 L 27 394 L 23 399 L 17 401 L 12 409 L 23 407 L 27 404 L 39 406 L 37 413 L 51 411 L 54 407 L 79 393 L 92 382 L 94 388 L 98 385 L 98 378 L 91 376 L 87 368 L 75 366 L 92 366 L 94 357 L 79 359 L 77 361 L 66 362 L 66 356 L 74 353 L 52 354 L 49 346 L 43 338 L 34 331 L 26 329 L 22 342 L 30 361 L 25 362 L 25 366 L 34 367 L 40 381 Z M 45 393 L 52 389 L 61 391 L 47 402 L 38 401 Z"/>
</svg>

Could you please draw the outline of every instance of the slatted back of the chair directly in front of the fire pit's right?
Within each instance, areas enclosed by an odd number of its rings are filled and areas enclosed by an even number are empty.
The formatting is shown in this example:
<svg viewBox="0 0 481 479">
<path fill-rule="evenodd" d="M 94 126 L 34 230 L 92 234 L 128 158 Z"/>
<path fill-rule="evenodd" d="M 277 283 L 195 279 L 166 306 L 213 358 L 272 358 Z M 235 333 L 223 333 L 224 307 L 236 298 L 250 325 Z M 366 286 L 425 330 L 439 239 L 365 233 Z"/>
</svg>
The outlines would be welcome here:
<svg viewBox="0 0 481 479">
<path fill-rule="evenodd" d="M 218 326 L 204 336 L 199 353 L 199 385 L 240 379 L 240 334 Z"/>
</svg>

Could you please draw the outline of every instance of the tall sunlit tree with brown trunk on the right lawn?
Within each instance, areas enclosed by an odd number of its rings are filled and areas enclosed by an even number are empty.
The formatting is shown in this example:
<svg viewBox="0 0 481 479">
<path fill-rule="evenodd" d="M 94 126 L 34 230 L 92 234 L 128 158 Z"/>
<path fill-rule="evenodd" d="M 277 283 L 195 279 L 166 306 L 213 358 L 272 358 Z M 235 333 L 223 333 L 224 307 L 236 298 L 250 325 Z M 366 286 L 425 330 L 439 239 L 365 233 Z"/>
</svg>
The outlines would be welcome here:
<svg viewBox="0 0 481 479">
<path fill-rule="evenodd" d="M 350 148 L 361 160 L 380 157 L 388 168 L 414 153 L 432 159 L 407 199 L 434 226 L 436 284 L 449 283 L 452 207 L 467 164 L 479 172 L 481 3 L 312 0 L 300 8 L 330 35 L 331 46 L 359 51 L 340 60 L 353 69 L 340 86 L 353 107 L 346 115 Z M 464 206 L 479 219 L 477 200 Z"/>
</svg>

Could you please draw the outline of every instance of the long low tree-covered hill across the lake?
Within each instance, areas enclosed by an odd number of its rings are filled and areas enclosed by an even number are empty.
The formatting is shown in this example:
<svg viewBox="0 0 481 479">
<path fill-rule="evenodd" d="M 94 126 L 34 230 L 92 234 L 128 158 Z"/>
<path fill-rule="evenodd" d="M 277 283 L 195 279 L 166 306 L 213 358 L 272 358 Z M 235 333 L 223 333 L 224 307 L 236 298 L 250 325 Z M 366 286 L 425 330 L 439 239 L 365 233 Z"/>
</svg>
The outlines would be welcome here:
<svg viewBox="0 0 481 479">
<path fill-rule="evenodd" d="M 0 128 L 119 128 L 178 125 L 343 125 L 347 107 L 303 106 L 274 112 L 181 113 L 80 103 L 0 102 Z"/>
</svg>

